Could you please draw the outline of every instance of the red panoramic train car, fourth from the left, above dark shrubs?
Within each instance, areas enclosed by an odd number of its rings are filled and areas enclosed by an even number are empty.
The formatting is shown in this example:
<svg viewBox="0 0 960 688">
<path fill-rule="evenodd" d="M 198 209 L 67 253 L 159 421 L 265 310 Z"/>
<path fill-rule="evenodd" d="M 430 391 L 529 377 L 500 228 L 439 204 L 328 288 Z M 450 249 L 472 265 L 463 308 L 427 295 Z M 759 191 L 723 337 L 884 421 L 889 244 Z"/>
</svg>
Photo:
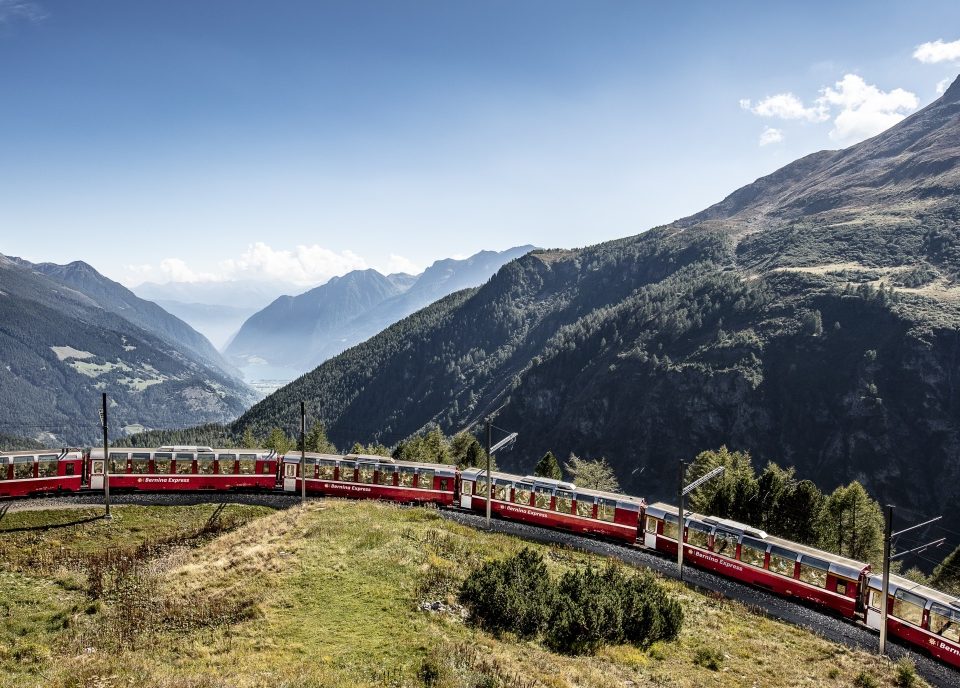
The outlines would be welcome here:
<svg viewBox="0 0 960 688">
<path fill-rule="evenodd" d="M 497 516 L 574 533 L 637 539 L 643 499 L 578 488 L 575 484 L 538 476 L 492 472 L 490 510 Z M 487 473 L 469 468 L 460 477 L 460 506 L 486 512 Z"/>
</svg>

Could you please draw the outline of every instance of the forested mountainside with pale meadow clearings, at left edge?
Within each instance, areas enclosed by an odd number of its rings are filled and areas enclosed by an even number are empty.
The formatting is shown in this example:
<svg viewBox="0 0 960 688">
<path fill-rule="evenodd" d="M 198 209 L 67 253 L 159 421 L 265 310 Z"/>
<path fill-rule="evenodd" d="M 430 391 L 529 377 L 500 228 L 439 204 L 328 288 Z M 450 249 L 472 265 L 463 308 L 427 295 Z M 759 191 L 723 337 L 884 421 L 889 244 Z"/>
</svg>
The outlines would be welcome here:
<svg viewBox="0 0 960 688">
<path fill-rule="evenodd" d="M 212 352 L 212 353 L 211 353 Z M 0 432 L 53 443 L 235 417 L 252 391 L 209 342 L 90 266 L 0 255 Z"/>
</svg>

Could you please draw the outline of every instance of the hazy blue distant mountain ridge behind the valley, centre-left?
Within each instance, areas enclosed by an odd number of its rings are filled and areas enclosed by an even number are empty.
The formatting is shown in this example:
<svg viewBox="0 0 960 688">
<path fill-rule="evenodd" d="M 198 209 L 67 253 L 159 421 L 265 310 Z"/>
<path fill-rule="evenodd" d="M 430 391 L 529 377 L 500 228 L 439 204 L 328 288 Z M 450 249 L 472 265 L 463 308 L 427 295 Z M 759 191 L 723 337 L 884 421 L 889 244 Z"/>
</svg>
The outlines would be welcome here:
<svg viewBox="0 0 960 688">
<path fill-rule="evenodd" d="M 260 363 L 306 372 L 438 298 L 481 284 L 532 248 L 439 260 L 418 276 L 354 270 L 276 299 L 243 324 L 225 353 L 238 367 Z"/>
</svg>

